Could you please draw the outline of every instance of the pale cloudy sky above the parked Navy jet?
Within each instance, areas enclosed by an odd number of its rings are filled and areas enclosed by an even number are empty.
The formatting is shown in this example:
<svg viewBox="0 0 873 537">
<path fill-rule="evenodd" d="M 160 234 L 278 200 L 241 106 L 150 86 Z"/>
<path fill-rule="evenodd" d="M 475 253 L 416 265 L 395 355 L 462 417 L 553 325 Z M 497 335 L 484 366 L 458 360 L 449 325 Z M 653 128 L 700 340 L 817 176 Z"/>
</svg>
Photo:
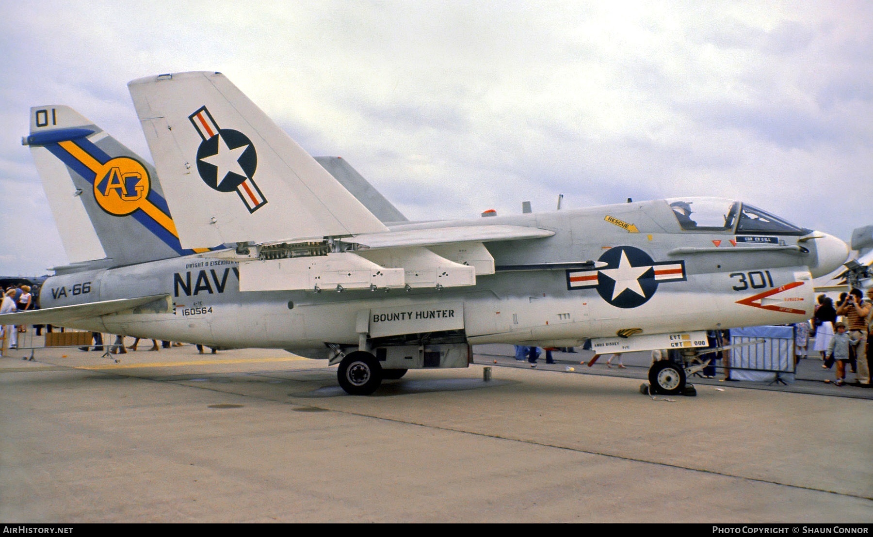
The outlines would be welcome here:
<svg viewBox="0 0 873 537">
<path fill-rule="evenodd" d="M 150 160 L 127 81 L 222 71 L 410 219 L 679 195 L 873 223 L 873 3 L 0 0 L 0 275 L 65 263 L 29 150 L 70 105 Z"/>
</svg>

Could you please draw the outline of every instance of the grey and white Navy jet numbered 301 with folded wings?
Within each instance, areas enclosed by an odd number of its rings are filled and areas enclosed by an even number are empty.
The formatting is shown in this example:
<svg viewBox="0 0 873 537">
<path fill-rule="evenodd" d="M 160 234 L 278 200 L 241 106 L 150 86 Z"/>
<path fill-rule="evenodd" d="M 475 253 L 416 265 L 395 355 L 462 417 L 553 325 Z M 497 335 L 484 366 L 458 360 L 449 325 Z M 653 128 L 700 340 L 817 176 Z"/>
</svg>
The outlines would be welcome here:
<svg viewBox="0 0 873 537">
<path fill-rule="evenodd" d="M 221 73 L 128 86 L 154 168 L 69 107 L 31 109 L 24 144 L 72 264 L 45 281 L 43 309 L 0 323 L 285 349 L 368 394 L 466 367 L 475 343 L 691 356 L 703 330 L 808 319 L 813 277 L 848 255 L 716 198 L 407 221 Z M 650 379 L 678 392 L 685 370 L 660 362 Z"/>
</svg>

